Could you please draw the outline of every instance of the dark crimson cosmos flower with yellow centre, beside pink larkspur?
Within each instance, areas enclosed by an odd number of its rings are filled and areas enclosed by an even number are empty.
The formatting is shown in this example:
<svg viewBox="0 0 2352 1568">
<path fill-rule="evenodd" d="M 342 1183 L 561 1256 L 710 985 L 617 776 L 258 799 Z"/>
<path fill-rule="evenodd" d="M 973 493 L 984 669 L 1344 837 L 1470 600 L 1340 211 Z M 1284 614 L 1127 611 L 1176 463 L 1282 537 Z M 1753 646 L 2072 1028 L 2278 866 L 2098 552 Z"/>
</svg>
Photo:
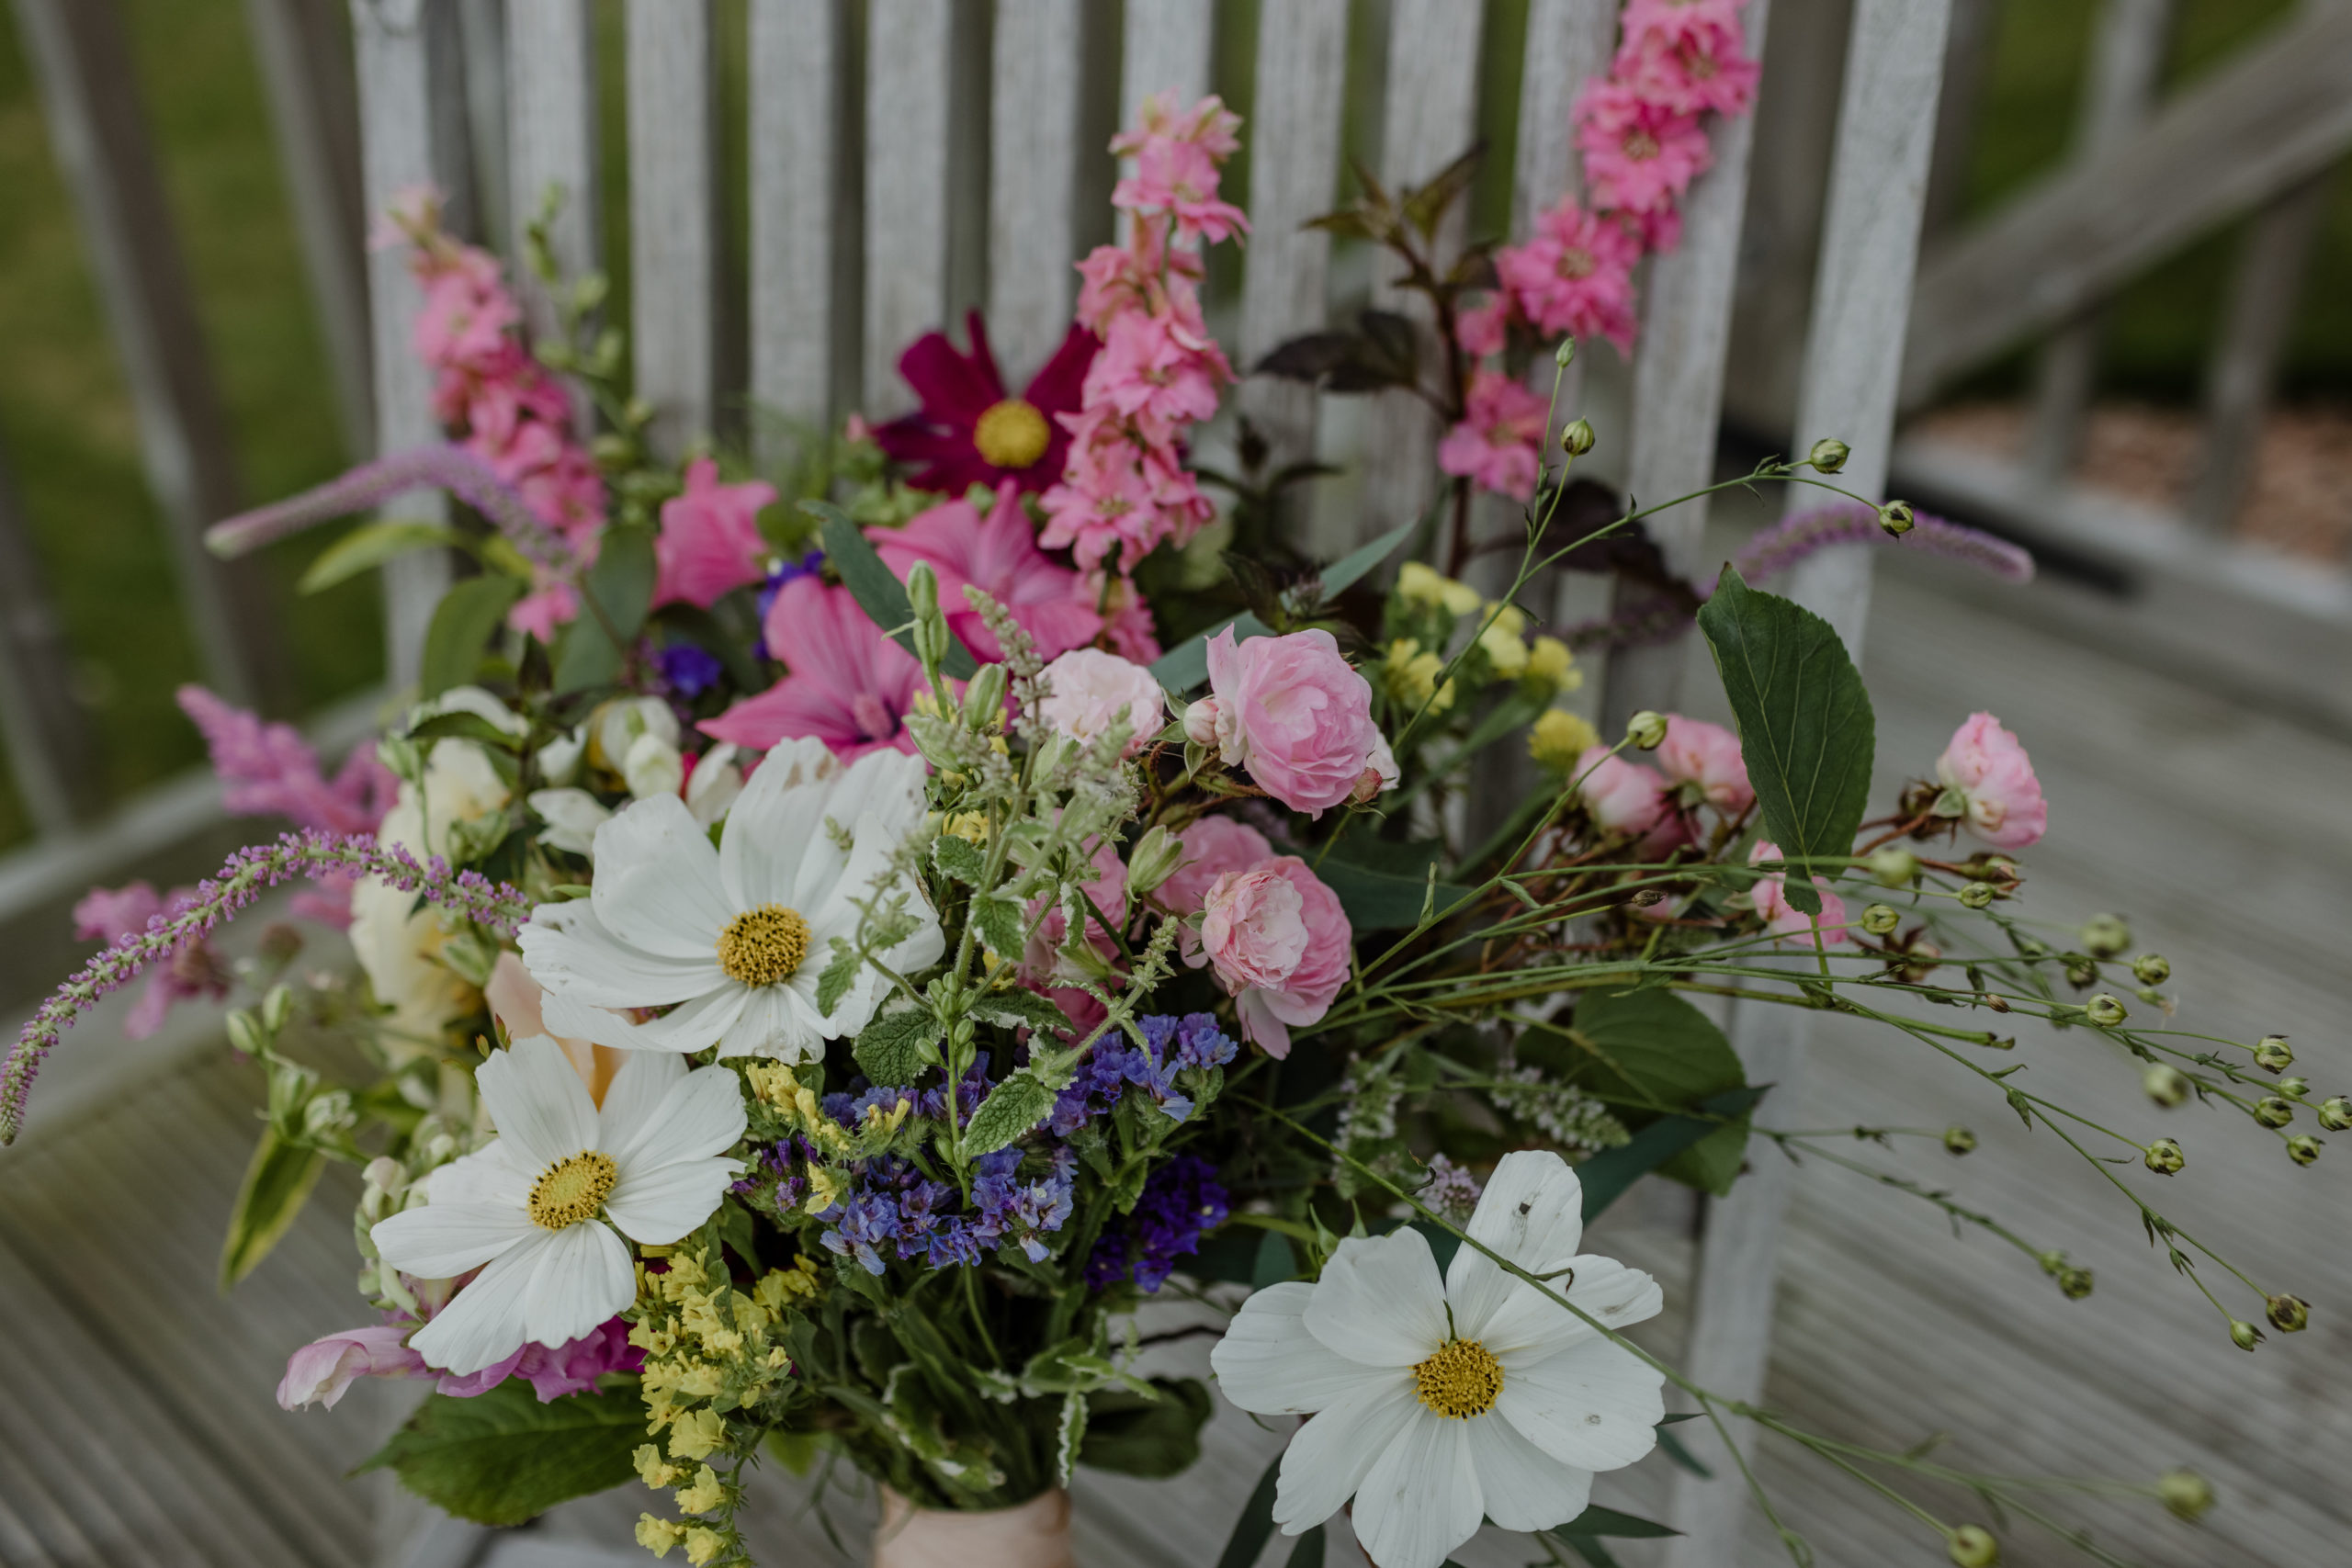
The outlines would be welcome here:
<svg viewBox="0 0 2352 1568">
<path fill-rule="evenodd" d="M 1018 397 L 1004 390 L 978 310 L 964 317 L 964 334 L 971 353 L 957 353 L 946 331 L 927 331 L 898 355 L 922 407 L 875 430 L 875 442 L 915 468 L 917 487 L 948 496 L 1000 480 L 1025 491 L 1054 484 L 1070 458 L 1070 433 L 1056 416 L 1077 411 L 1094 334 L 1073 324 Z"/>
</svg>

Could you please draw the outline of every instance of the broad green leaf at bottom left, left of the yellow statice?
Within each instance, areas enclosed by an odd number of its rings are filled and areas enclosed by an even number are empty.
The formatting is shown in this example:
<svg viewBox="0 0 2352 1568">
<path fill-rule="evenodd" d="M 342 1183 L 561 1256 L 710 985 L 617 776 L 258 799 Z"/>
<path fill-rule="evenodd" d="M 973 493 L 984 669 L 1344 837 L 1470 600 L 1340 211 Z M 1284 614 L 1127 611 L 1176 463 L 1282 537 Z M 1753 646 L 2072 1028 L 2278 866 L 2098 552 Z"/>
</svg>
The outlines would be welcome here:
<svg viewBox="0 0 2352 1568">
<path fill-rule="evenodd" d="M 487 1526 L 517 1526 L 557 1502 L 635 1479 L 644 1441 L 637 1387 L 539 1403 L 508 1378 L 487 1394 L 430 1394 L 360 1469 L 390 1469 L 426 1502 Z"/>
</svg>

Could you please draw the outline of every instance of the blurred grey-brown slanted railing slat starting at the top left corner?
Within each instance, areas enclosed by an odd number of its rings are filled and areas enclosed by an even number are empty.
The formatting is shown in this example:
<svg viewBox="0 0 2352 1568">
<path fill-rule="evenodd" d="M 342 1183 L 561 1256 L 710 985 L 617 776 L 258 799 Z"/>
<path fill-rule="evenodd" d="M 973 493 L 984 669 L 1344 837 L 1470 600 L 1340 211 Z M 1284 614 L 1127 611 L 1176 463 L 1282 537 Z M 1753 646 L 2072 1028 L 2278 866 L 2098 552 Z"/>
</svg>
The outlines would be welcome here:
<svg viewBox="0 0 2352 1568">
<path fill-rule="evenodd" d="M 292 684 L 275 654 L 259 567 L 223 564 L 200 538 L 238 510 L 235 451 L 148 146 L 122 19 L 113 0 L 24 0 L 14 9 L 108 336 L 122 357 L 139 458 L 162 510 L 205 675 L 233 703 L 282 705 Z"/>
</svg>

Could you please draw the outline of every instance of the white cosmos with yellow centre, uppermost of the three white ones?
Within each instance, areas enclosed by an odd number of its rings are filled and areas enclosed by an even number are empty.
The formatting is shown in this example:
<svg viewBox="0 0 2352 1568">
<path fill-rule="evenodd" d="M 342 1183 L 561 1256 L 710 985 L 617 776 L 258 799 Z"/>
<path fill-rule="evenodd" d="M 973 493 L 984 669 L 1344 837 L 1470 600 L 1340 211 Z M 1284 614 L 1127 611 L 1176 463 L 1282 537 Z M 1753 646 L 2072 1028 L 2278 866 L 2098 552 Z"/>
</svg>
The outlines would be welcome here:
<svg viewBox="0 0 2352 1568">
<path fill-rule="evenodd" d="M 877 954 L 898 973 L 946 952 L 920 879 L 889 884 L 922 830 L 922 759 L 868 752 L 842 766 L 823 741 L 786 741 L 727 811 L 717 849 L 675 795 L 630 802 L 595 830 L 588 898 L 539 905 L 522 961 L 546 987 L 548 1030 L 637 1051 L 800 1063 L 856 1034 L 887 980 L 861 969 L 826 1013 L 816 980 L 833 938 L 856 940 L 858 900 L 901 893 L 913 936 Z M 673 1009 L 633 1023 L 612 1009 Z"/>
</svg>

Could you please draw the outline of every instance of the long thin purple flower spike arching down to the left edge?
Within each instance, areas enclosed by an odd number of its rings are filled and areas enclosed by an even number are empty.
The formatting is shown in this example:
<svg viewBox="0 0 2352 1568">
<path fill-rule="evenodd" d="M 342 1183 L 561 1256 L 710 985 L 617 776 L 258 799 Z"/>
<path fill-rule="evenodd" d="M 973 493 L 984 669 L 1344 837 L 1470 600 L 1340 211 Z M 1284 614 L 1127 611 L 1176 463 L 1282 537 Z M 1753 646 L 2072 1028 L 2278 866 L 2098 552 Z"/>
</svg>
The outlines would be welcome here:
<svg viewBox="0 0 2352 1568">
<path fill-rule="evenodd" d="M 252 907 L 263 891 L 318 870 L 383 877 L 402 893 L 423 893 L 430 903 L 508 936 L 532 917 L 532 900 L 522 889 L 492 882 L 482 872 L 452 872 L 440 856 L 419 863 L 397 844 L 318 827 L 280 835 L 275 844 L 249 844 L 228 856 L 219 875 L 198 882 L 195 896 L 176 914 L 155 914 L 146 931 L 125 933 L 73 971 L 73 978 L 26 1020 L 7 1067 L 0 1070 L 0 1145 L 16 1143 L 24 1128 L 24 1103 L 42 1058 L 99 997 L 120 990 L 148 964 L 169 959 L 181 943 L 209 936 L 221 922 Z"/>
</svg>

